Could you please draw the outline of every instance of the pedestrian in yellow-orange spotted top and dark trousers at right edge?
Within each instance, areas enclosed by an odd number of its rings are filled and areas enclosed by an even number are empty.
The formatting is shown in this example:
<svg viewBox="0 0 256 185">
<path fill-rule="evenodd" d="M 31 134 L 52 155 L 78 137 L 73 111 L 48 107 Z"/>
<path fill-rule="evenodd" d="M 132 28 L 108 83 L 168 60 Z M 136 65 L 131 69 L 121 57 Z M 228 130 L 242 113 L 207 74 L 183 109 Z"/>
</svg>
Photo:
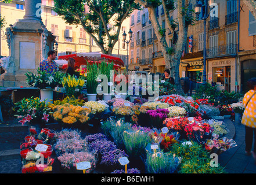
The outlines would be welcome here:
<svg viewBox="0 0 256 185">
<path fill-rule="evenodd" d="M 246 154 L 253 154 L 256 164 L 256 77 L 247 81 L 247 86 L 250 89 L 243 98 L 244 113 L 241 123 L 245 125 L 246 130 Z M 254 136 L 254 147 L 253 146 Z"/>
</svg>

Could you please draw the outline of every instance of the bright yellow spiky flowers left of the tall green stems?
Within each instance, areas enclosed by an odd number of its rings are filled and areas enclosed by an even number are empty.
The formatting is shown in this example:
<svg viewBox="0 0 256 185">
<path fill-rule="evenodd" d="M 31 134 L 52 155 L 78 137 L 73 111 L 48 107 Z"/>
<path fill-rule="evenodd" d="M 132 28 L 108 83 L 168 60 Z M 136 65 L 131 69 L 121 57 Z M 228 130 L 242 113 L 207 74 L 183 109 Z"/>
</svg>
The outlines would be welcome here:
<svg viewBox="0 0 256 185">
<path fill-rule="evenodd" d="M 84 77 L 75 77 L 73 76 L 64 76 L 62 80 L 62 85 L 66 90 L 66 95 L 68 97 L 74 96 L 75 98 L 78 98 L 78 96 L 81 94 L 82 87 L 84 86 L 85 79 Z"/>
</svg>

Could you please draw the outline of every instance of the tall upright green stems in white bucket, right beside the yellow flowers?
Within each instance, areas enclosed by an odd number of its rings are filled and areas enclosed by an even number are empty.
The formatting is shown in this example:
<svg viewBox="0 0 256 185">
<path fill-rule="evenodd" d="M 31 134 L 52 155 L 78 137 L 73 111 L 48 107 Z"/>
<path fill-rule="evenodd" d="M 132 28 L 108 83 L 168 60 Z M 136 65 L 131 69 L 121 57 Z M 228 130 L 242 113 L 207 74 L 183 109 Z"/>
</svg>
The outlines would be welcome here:
<svg viewBox="0 0 256 185">
<path fill-rule="evenodd" d="M 99 75 L 98 66 L 96 63 L 92 65 L 87 64 L 87 80 L 86 80 L 86 89 L 88 101 L 96 101 L 97 95 L 97 77 Z"/>
</svg>

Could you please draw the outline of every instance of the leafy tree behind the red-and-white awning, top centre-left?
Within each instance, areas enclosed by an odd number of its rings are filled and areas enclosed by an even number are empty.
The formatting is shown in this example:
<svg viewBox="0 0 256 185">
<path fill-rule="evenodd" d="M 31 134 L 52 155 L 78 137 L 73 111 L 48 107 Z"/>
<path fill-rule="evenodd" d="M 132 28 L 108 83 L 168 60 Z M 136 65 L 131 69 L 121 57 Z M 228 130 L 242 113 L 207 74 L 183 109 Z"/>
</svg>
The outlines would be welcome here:
<svg viewBox="0 0 256 185">
<path fill-rule="evenodd" d="M 111 54 L 118 41 L 121 24 L 140 5 L 134 0 L 54 0 L 54 11 L 68 24 L 82 25 L 104 54 Z M 85 13 L 88 6 L 89 13 Z M 114 21 L 116 32 L 107 24 Z"/>
</svg>

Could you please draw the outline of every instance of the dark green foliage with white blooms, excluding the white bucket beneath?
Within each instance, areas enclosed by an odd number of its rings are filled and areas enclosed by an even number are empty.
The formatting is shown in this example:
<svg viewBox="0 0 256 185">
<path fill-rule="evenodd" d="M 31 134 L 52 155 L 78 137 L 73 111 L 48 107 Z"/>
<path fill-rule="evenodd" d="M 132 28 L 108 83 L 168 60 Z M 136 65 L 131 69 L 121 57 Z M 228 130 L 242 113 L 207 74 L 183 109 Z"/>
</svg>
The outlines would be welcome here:
<svg viewBox="0 0 256 185">
<path fill-rule="evenodd" d="M 27 72 L 24 75 L 27 76 L 27 84 L 30 87 L 43 88 L 55 88 L 62 84 L 64 73 L 56 71 L 54 75 L 49 75 L 45 71 L 37 69 L 37 75 L 31 72 Z"/>
</svg>

